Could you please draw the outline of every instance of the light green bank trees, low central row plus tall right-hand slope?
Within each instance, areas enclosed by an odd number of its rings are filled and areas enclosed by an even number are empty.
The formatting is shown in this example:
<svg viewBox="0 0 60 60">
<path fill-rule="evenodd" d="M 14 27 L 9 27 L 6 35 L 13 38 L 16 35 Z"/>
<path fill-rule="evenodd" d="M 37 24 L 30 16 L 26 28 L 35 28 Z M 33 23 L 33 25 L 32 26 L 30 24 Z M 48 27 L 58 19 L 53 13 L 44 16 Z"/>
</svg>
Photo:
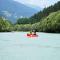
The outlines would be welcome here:
<svg viewBox="0 0 60 60">
<path fill-rule="evenodd" d="M 16 24 L 15 30 L 29 31 L 37 30 L 41 32 L 60 32 L 60 11 L 50 13 L 46 18 L 35 24 Z"/>
</svg>

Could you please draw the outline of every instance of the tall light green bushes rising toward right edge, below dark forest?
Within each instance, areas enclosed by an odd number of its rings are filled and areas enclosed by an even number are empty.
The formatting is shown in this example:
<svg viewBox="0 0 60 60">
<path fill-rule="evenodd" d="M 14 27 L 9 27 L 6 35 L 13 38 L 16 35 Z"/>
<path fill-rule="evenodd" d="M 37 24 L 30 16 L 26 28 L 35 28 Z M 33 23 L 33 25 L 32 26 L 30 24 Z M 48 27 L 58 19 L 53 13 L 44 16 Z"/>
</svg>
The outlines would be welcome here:
<svg viewBox="0 0 60 60">
<path fill-rule="evenodd" d="M 60 11 L 51 13 L 40 23 L 35 24 L 35 27 L 42 32 L 60 32 Z"/>
</svg>

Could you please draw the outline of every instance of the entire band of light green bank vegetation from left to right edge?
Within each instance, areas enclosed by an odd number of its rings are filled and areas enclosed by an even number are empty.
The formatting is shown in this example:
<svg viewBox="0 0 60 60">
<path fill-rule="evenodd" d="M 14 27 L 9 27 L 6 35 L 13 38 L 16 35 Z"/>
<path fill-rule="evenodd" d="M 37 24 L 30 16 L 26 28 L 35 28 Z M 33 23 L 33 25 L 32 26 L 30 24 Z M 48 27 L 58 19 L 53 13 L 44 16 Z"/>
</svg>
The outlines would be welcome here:
<svg viewBox="0 0 60 60">
<path fill-rule="evenodd" d="M 0 18 L 0 32 L 4 31 L 30 31 L 60 32 L 60 11 L 50 13 L 49 16 L 35 24 L 11 24 L 7 20 Z"/>
</svg>

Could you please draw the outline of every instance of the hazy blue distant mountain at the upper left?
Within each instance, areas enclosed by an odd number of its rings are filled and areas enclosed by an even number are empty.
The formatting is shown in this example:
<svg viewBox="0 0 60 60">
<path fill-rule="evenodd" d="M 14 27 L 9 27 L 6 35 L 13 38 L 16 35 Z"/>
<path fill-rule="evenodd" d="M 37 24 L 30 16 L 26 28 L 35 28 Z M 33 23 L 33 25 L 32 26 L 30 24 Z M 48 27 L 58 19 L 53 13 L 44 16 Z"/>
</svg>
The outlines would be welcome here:
<svg viewBox="0 0 60 60">
<path fill-rule="evenodd" d="M 13 0 L 0 0 L 0 16 L 16 22 L 17 18 L 30 17 L 37 10 Z"/>
</svg>

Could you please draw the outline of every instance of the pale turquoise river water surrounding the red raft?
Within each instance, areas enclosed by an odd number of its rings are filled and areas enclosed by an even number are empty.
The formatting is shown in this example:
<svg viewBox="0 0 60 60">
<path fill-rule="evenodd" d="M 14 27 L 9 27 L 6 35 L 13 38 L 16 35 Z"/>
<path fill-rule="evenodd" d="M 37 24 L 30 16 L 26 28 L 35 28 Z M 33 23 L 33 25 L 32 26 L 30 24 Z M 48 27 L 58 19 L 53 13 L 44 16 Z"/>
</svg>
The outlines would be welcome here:
<svg viewBox="0 0 60 60">
<path fill-rule="evenodd" d="M 60 34 L 0 33 L 0 60 L 60 60 Z"/>
</svg>

